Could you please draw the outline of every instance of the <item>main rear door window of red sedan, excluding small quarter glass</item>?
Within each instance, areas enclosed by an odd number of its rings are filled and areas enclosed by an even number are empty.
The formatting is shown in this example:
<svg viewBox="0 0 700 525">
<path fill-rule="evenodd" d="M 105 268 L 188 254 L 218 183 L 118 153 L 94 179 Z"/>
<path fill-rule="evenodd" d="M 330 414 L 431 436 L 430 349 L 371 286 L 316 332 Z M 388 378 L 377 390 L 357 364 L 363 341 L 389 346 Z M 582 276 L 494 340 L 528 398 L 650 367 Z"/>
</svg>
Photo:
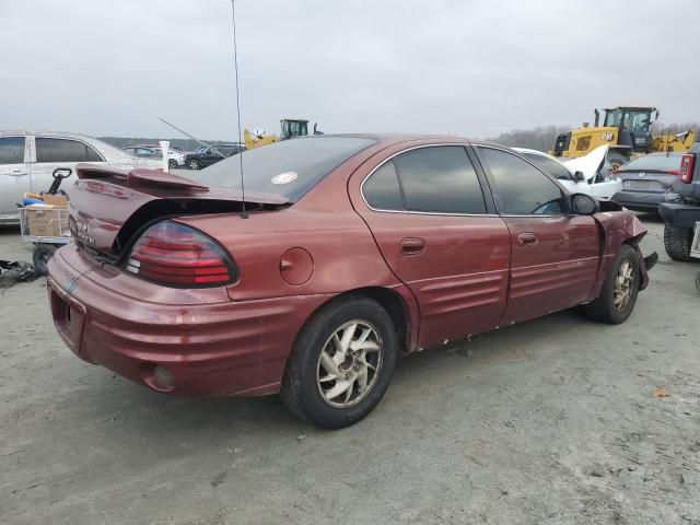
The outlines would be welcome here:
<svg viewBox="0 0 700 525">
<path fill-rule="evenodd" d="M 394 159 L 405 208 L 438 213 L 486 213 L 477 173 L 460 145 L 407 151 Z"/>
</svg>

